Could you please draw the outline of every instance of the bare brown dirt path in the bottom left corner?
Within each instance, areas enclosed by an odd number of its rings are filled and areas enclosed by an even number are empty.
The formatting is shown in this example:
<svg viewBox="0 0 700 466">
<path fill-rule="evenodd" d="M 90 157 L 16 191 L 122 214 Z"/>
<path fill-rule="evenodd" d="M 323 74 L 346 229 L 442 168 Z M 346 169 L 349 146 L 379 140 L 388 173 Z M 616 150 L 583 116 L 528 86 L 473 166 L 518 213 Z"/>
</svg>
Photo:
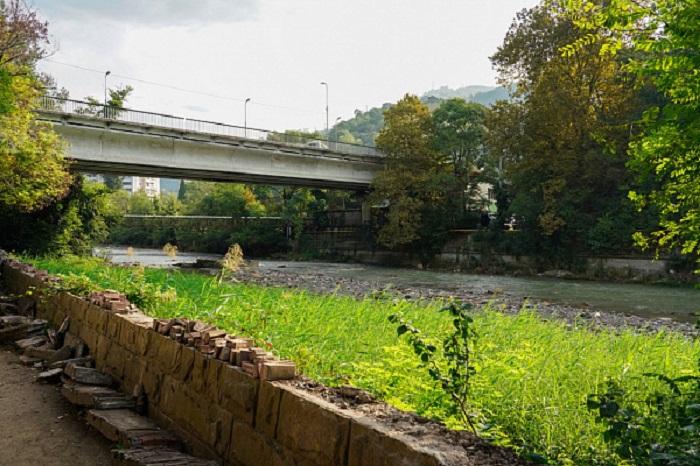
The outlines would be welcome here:
<svg viewBox="0 0 700 466">
<path fill-rule="evenodd" d="M 112 444 L 90 430 L 59 386 L 34 382 L 38 371 L 0 348 L 0 466 L 97 466 Z"/>
</svg>

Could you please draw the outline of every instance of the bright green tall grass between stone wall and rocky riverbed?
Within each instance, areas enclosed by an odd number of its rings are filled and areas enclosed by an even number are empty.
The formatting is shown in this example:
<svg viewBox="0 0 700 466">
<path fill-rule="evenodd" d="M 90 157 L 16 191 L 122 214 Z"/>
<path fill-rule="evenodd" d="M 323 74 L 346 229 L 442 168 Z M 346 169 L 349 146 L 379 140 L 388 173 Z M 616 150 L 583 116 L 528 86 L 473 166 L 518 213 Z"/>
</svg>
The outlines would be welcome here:
<svg viewBox="0 0 700 466">
<path fill-rule="evenodd" d="M 101 288 L 136 295 L 149 289 L 147 295 L 160 292 L 165 299 L 170 287 L 176 299 L 144 300 L 148 314 L 203 319 L 255 337 L 317 380 L 361 386 L 399 408 L 459 426 L 440 389 L 387 320 L 402 312 L 438 341 L 450 325 L 437 312 L 440 303 L 220 284 L 198 274 L 111 268 L 93 260 L 33 262 L 51 273 L 83 274 Z M 634 387 L 643 399 L 662 389 L 644 373 L 693 374 L 700 357 L 700 345 L 678 335 L 571 329 L 529 312 L 508 316 L 487 307 L 476 313 L 475 326 L 478 372 L 471 402 L 475 415 L 494 425 L 485 435 L 555 464 L 617 464 L 602 440 L 602 426 L 586 409 L 587 394 L 616 381 Z"/>
</svg>

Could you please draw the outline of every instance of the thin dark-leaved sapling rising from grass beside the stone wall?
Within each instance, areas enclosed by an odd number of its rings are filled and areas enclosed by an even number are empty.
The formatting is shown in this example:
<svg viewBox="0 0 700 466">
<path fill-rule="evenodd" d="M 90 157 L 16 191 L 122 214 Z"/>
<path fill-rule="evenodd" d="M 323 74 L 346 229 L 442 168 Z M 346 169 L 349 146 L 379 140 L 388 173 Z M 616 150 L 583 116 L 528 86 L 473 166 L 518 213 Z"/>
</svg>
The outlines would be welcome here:
<svg viewBox="0 0 700 466">
<path fill-rule="evenodd" d="M 390 315 L 389 322 L 399 324 L 396 329 L 399 336 L 408 335 L 408 341 L 420 358 L 422 366 L 428 369 L 430 377 L 440 384 L 464 422 L 476 433 L 469 406 L 469 380 L 476 373 L 472 364 L 476 332 L 474 319 L 470 315 L 471 305 L 454 300 L 441 308 L 440 312 L 448 312 L 452 316 L 455 329 L 442 342 L 444 360 L 440 360 L 437 347 L 429 343 L 421 331 L 401 314 Z"/>
</svg>

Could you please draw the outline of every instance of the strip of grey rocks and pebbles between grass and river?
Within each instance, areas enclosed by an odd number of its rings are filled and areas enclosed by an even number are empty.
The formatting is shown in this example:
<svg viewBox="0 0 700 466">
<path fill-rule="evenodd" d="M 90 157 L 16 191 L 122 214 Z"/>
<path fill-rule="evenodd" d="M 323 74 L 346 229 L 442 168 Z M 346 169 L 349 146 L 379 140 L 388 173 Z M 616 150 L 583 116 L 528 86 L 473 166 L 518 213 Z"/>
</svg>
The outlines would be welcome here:
<svg viewBox="0 0 700 466">
<path fill-rule="evenodd" d="M 201 264 L 206 266 L 207 264 Z M 211 264 L 213 265 L 213 264 Z M 209 269 L 216 273 L 219 268 Z M 236 279 L 244 283 L 255 283 L 264 286 L 284 288 L 301 288 L 317 294 L 340 294 L 363 298 L 365 296 L 390 296 L 407 300 L 435 300 L 456 298 L 469 302 L 475 307 L 490 304 L 492 308 L 509 314 L 517 314 L 521 309 L 534 309 L 545 319 L 559 320 L 570 327 L 587 326 L 590 328 L 635 329 L 657 333 L 661 330 L 673 331 L 689 337 L 700 336 L 700 329 L 692 324 L 676 322 L 670 318 L 646 319 L 643 317 L 624 315 L 600 309 L 578 308 L 548 302 L 536 302 L 527 296 L 507 296 L 500 290 L 492 290 L 486 294 L 475 293 L 468 289 L 445 291 L 432 288 L 408 288 L 387 286 L 385 283 L 337 277 L 329 274 L 289 273 L 284 268 L 277 270 L 260 270 L 254 265 L 242 268 Z"/>
</svg>

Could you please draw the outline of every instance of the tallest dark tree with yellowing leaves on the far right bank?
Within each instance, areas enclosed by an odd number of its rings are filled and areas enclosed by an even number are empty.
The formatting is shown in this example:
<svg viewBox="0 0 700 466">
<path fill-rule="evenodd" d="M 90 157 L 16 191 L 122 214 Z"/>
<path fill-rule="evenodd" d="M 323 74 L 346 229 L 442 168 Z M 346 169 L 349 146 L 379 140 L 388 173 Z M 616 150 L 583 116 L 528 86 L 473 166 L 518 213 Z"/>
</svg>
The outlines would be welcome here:
<svg viewBox="0 0 700 466">
<path fill-rule="evenodd" d="M 583 34 L 560 2 L 547 1 L 520 12 L 491 57 L 501 83 L 515 86 L 488 127 L 505 159 L 511 210 L 531 241 L 525 252 L 562 262 L 604 243 L 591 237 L 607 231 L 596 229 L 600 219 L 624 218 L 618 226 L 630 235 L 636 226 L 622 215 L 631 206 L 620 189 L 631 181 L 624 149 L 635 83 L 619 60 L 600 55 L 601 41 L 562 56 Z"/>
</svg>

